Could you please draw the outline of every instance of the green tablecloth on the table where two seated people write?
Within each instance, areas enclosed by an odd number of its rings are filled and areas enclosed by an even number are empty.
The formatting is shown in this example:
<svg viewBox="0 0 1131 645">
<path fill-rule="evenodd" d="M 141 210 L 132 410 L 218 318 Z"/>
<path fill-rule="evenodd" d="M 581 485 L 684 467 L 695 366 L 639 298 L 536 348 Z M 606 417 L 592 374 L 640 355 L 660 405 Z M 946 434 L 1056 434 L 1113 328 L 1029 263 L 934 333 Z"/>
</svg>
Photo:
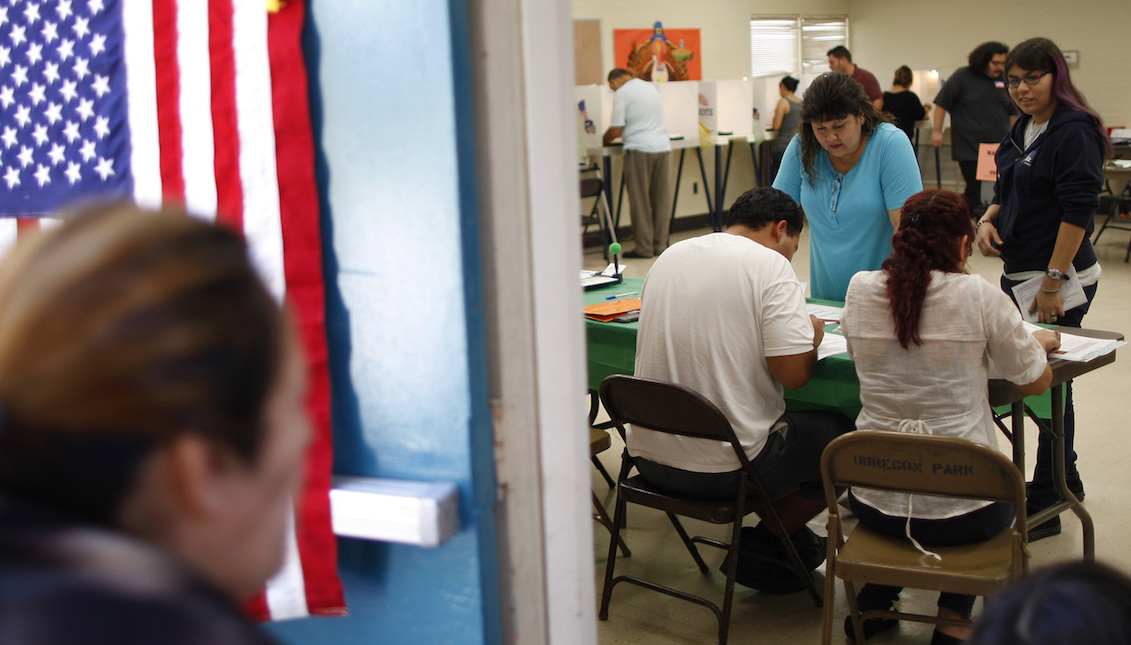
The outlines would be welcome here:
<svg viewBox="0 0 1131 645">
<path fill-rule="evenodd" d="M 624 284 L 595 289 L 585 292 L 586 304 L 606 302 L 613 294 L 631 293 L 624 298 L 639 298 L 644 280 L 627 277 Z M 634 292 L 634 293 L 633 293 Z M 811 300 L 820 304 L 841 307 L 843 302 Z M 636 366 L 637 322 L 597 322 L 586 319 L 585 332 L 588 345 L 589 389 L 596 390 L 601 381 L 610 375 L 630 375 Z M 813 378 L 801 389 L 785 390 L 785 403 L 788 410 L 835 410 L 856 419 L 860 414 L 860 380 L 856 379 L 856 366 L 848 354 L 828 356 L 817 363 Z M 1030 396 L 1026 405 L 1042 419 L 1051 414 L 1051 401 L 1047 393 Z M 999 408 L 1005 412 L 1009 406 Z"/>
</svg>

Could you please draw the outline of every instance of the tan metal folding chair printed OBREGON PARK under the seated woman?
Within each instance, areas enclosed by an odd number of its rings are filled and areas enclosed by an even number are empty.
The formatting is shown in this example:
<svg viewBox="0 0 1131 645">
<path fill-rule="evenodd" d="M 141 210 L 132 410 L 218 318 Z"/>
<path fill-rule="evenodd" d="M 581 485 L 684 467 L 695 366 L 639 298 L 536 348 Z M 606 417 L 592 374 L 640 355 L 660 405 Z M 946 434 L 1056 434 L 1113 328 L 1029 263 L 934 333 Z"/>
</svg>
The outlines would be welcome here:
<svg viewBox="0 0 1131 645">
<path fill-rule="evenodd" d="M 861 613 L 857 582 L 984 596 L 1028 567 L 1025 480 L 1013 462 L 991 446 L 955 437 L 857 430 L 829 444 L 821 456 L 821 475 L 829 502 L 824 597 L 832 597 L 836 578 L 844 580 L 857 643 L 864 643 L 863 621 L 872 618 L 969 625 L 901 611 Z M 877 533 L 862 524 L 845 539 L 837 506 L 837 490 L 843 487 L 1005 501 L 1013 505 L 1016 519 L 986 542 L 930 547 L 942 558 L 935 560 L 906 538 Z M 832 640 L 832 603 L 827 603 L 824 645 Z"/>
</svg>

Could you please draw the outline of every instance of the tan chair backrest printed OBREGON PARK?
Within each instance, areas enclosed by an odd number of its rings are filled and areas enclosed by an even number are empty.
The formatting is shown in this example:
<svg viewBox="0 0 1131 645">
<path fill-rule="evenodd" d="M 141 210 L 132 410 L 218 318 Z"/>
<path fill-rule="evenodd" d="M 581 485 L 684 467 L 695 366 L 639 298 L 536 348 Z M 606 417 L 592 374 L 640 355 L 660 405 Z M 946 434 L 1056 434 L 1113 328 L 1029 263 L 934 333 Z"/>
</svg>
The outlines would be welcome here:
<svg viewBox="0 0 1131 645">
<path fill-rule="evenodd" d="M 857 430 L 824 448 L 821 475 L 830 499 L 835 487 L 855 485 L 1025 507 L 1017 465 L 991 446 L 956 437 Z"/>
</svg>

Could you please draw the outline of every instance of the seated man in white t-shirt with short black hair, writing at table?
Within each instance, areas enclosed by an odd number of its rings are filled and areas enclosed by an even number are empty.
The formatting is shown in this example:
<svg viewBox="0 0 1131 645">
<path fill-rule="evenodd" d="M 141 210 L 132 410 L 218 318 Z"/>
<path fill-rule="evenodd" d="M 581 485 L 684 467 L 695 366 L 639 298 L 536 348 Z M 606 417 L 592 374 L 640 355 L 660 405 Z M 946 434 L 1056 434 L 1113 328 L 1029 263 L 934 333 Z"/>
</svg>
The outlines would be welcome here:
<svg viewBox="0 0 1131 645">
<path fill-rule="evenodd" d="M 836 413 L 785 410 L 783 386 L 809 381 L 824 335 L 789 266 L 803 226 L 788 195 L 756 188 L 735 200 L 725 232 L 664 251 L 641 289 L 634 373 L 690 387 L 723 411 L 802 559 L 815 568 L 823 542 L 805 523 L 826 508 L 821 452 L 853 423 Z M 735 494 L 741 465 L 729 445 L 631 428 L 628 449 L 640 474 L 672 493 Z M 749 542 L 768 553 L 776 545 L 784 558 L 765 524 L 743 531 L 743 549 Z M 783 567 L 777 574 L 788 577 Z M 777 579 L 754 577 L 739 582 L 784 591 Z"/>
</svg>

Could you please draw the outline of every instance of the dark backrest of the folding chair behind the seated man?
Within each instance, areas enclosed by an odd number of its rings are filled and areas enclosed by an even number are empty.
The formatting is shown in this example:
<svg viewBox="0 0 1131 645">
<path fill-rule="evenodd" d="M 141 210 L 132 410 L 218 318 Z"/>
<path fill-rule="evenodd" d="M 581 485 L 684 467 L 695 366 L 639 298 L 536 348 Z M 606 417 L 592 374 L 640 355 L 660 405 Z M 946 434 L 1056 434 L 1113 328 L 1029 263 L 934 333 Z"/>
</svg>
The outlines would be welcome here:
<svg viewBox="0 0 1131 645">
<path fill-rule="evenodd" d="M 624 436 L 624 424 L 699 439 L 728 441 L 743 467 L 746 455 L 726 415 L 691 388 L 640 377 L 613 375 L 601 384 L 601 402 Z"/>
</svg>

